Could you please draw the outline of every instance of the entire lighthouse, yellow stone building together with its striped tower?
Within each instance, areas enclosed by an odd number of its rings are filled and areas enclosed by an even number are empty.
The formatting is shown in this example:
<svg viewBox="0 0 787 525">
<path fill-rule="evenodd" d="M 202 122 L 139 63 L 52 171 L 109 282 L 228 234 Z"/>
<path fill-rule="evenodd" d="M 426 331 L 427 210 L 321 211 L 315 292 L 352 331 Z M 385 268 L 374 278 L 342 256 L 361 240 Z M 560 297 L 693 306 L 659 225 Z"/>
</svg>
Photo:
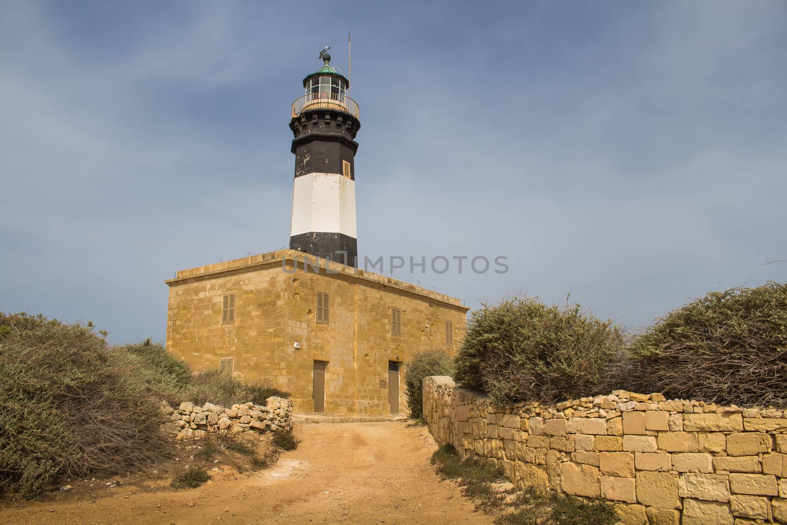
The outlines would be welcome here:
<svg viewBox="0 0 787 525">
<path fill-rule="evenodd" d="M 427 349 L 453 355 L 468 309 L 356 268 L 358 106 L 349 79 L 320 55 L 290 120 L 290 250 L 177 272 L 166 281 L 167 348 L 194 371 L 288 390 L 296 412 L 398 413 L 401 364 Z"/>
</svg>

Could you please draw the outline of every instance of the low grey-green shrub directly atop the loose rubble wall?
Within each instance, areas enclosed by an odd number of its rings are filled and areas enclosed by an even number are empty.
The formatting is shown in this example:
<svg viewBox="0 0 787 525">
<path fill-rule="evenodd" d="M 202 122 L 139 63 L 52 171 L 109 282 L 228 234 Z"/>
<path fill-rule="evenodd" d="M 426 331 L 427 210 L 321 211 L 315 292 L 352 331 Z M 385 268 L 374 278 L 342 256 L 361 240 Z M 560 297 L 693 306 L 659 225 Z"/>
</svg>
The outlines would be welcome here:
<svg viewBox="0 0 787 525">
<path fill-rule="evenodd" d="M 264 383 L 243 383 L 217 369 L 194 375 L 183 394 L 186 401 L 197 405 L 209 401 L 222 406 L 249 401 L 255 405 L 264 405 L 265 400 L 271 396 L 290 397 L 290 394 Z"/>
</svg>

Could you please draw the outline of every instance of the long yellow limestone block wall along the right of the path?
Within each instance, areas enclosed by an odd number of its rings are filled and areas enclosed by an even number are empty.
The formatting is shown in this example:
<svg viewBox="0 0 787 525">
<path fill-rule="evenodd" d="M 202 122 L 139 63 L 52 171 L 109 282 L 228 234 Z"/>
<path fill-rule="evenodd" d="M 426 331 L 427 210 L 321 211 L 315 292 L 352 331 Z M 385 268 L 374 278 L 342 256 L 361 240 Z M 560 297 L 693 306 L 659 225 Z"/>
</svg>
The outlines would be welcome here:
<svg viewBox="0 0 787 525">
<path fill-rule="evenodd" d="M 423 381 L 438 444 L 499 461 L 517 486 L 615 503 L 623 523 L 787 523 L 787 413 L 615 390 L 496 406 Z"/>
</svg>

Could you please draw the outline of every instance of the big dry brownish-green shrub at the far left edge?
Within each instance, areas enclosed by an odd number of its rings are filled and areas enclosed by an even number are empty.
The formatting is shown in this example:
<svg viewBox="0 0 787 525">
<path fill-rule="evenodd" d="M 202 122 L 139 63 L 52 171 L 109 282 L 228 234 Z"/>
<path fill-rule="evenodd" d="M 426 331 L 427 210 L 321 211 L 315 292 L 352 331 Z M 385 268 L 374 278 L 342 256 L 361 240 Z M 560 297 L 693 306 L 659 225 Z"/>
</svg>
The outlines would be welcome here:
<svg viewBox="0 0 787 525">
<path fill-rule="evenodd" d="M 92 327 L 0 313 L 0 492 L 112 475 L 168 455 L 157 401 Z"/>
</svg>

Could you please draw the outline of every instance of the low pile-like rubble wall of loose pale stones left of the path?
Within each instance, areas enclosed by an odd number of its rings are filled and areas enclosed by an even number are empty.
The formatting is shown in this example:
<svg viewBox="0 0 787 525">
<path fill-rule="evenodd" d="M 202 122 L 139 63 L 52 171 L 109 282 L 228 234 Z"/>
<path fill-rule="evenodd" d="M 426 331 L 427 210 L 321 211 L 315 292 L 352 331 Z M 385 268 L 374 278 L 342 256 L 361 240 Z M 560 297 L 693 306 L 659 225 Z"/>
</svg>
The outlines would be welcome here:
<svg viewBox="0 0 787 525">
<path fill-rule="evenodd" d="M 201 438 L 209 432 L 242 434 L 292 429 L 293 405 L 289 399 L 268 397 L 265 405 L 245 403 L 225 409 L 205 403 L 199 406 L 184 401 L 169 420 L 180 428 L 178 439 Z"/>
</svg>

